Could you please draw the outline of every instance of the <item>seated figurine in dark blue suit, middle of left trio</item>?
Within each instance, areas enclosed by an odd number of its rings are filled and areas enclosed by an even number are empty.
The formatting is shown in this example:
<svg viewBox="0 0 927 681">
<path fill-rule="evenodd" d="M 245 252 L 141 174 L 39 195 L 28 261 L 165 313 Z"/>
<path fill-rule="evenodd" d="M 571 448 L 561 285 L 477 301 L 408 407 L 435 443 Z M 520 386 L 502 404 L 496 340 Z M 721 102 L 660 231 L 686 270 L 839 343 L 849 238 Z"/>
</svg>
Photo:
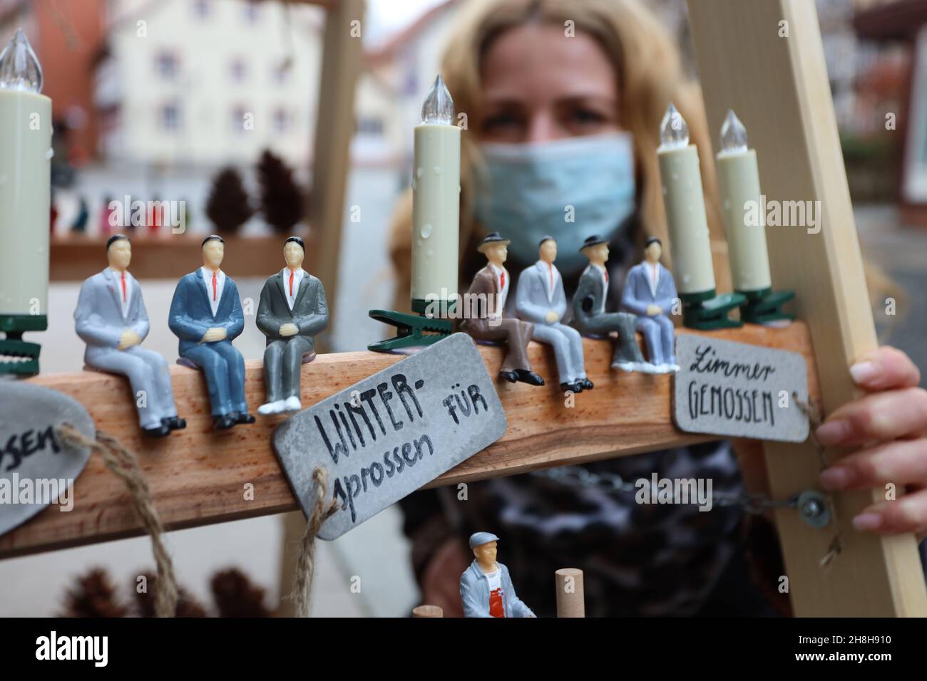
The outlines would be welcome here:
<svg viewBox="0 0 927 681">
<path fill-rule="evenodd" d="M 180 338 L 180 356 L 206 375 L 212 424 L 217 429 L 253 423 L 245 400 L 245 359 L 232 341 L 245 328 L 238 288 L 219 269 L 225 241 L 203 239 L 203 266 L 184 276 L 174 289 L 168 326 Z"/>
</svg>

